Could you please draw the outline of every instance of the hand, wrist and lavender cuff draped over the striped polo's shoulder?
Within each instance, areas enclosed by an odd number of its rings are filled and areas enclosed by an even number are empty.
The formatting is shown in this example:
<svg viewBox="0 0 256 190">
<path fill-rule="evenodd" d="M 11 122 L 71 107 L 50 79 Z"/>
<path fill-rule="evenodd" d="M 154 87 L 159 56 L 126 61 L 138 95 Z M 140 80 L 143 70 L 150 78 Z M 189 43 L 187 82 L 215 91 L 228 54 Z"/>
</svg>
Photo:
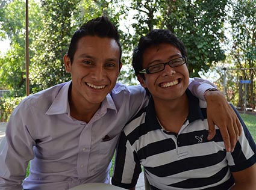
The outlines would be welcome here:
<svg viewBox="0 0 256 190">
<path fill-rule="evenodd" d="M 190 78 L 189 90 L 194 96 L 207 102 L 208 139 L 215 135 L 215 125 L 219 127 L 225 149 L 233 152 L 242 127 L 233 108 L 214 84 L 201 78 Z"/>
</svg>

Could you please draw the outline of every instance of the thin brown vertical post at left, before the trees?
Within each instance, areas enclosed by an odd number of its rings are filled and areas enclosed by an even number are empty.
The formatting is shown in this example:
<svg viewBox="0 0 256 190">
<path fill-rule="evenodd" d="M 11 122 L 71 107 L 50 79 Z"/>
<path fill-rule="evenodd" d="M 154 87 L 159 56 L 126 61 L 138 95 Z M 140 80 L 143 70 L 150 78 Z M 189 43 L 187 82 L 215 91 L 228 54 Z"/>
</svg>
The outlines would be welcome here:
<svg viewBox="0 0 256 190">
<path fill-rule="evenodd" d="M 28 50 L 28 0 L 26 0 L 26 94 L 30 95 L 30 78 L 29 78 L 29 61 L 30 55 Z"/>
</svg>

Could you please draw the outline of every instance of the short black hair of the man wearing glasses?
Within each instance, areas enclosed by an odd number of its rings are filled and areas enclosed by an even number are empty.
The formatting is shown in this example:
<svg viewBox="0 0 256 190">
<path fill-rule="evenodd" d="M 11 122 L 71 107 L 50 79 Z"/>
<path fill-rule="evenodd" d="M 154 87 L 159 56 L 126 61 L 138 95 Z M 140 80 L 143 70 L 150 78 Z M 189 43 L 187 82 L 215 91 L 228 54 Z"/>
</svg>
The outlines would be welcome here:
<svg viewBox="0 0 256 190">
<path fill-rule="evenodd" d="M 144 78 L 144 74 L 139 73 L 142 67 L 142 57 L 146 49 L 152 46 L 158 46 L 159 44 L 167 43 L 175 46 L 180 50 L 183 57 L 187 57 L 186 48 L 181 40 L 174 35 L 169 29 L 152 29 L 148 34 L 141 37 L 138 46 L 133 51 L 133 69 L 136 76 L 141 75 Z"/>
</svg>

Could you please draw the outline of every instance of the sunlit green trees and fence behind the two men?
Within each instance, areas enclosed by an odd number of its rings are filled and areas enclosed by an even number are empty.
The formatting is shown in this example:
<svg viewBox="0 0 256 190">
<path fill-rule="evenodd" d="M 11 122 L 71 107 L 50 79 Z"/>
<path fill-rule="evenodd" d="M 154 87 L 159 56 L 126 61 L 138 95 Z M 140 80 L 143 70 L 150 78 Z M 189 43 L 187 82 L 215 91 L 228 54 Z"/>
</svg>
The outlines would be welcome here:
<svg viewBox="0 0 256 190">
<path fill-rule="evenodd" d="M 131 57 L 139 37 L 167 28 L 187 48 L 190 77 L 209 79 L 255 114 L 256 0 L 1 0 L 0 122 L 28 94 L 70 80 L 62 58 L 72 34 L 102 15 L 120 31 L 119 82 L 138 84 Z"/>
</svg>

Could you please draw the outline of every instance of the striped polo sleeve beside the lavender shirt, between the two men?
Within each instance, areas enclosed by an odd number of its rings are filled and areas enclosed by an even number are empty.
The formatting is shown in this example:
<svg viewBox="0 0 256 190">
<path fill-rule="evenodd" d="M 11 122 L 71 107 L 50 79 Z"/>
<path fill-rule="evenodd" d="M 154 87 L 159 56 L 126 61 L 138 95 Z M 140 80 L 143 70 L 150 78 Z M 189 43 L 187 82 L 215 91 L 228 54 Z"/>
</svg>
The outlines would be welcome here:
<svg viewBox="0 0 256 190">
<path fill-rule="evenodd" d="M 119 145 L 117 146 L 114 174 L 111 183 L 125 189 L 133 188 L 136 186 L 141 171 L 136 151 L 131 146 L 125 133 L 122 132 Z"/>
</svg>

